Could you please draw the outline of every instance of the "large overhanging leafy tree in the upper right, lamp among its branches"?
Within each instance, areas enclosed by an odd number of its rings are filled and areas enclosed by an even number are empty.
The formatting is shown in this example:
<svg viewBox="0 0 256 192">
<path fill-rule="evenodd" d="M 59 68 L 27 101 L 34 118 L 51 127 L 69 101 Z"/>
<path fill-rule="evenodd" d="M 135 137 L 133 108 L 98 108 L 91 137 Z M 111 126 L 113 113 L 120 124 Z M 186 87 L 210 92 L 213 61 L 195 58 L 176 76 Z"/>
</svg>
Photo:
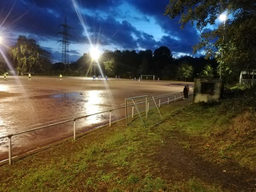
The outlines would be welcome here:
<svg viewBox="0 0 256 192">
<path fill-rule="evenodd" d="M 216 29 L 207 30 L 224 11 L 231 15 L 225 26 L 222 23 Z M 255 1 L 170 0 L 165 15 L 170 18 L 181 15 L 182 28 L 189 21 L 196 23 L 201 41 L 194 46 L 194 52 L 204 48 L 208 58 L 215 56 L 224 73 L 256 68 Z"/>
</svg>

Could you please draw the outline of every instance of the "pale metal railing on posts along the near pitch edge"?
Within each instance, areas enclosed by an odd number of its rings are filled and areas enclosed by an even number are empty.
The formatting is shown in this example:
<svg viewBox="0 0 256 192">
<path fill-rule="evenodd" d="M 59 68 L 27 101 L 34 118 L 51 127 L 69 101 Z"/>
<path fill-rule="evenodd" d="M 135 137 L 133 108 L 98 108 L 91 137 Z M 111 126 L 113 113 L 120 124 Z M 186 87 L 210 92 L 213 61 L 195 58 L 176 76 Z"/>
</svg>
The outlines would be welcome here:
<svg viewBox="0 0 256 192">
<path fill-rule="evenodd" d="M 191 90 L 193 90 L 193 88 Z M 189 95 L 192 94 L 191 90 L 189 90 L 189 92 L 190 92 Z M 183 92 L 178 92 L 178 93 L 175 93 L 175 94 L 172 94 L 172 95 L 169 95 L 169 96 L 163 96 L 163 97 L 159 97 L 158 96 L 158 97 L 156 97 L 155 99 L 159 99 L 158 108 L 160 108 L 160 105 L 163 105 L 163 104 L 166 103 L 166 102 L 161 103 L 160 102 L 161 99 L 168 98 L 167 103 L 169 104 L 170 102 L 173 102 L 173 101 L 175 102 L 177 99 L 182 99 L 183 98 L 182 93 Z M 177 95 L 179 95 L 179 96 L 176 97 Z M 170 100 L 169 98 L 171 96 L 175 96 L 175 98 Z M 129 106 L 133 106 L 133 105 L 129 105 Z M 123 107 L 114 108 L 114 109 L 111 109 L 111 110 L 100 111 L 98 113 L 92 113 L 92 114 L 88 114 L 88 115 L 84 115 L 84 116 L 79 116 L 79 117 L 75 117 L 73 119 L 68 119 L 68 120 L 64 120 L 64 121 L 61 121 L 61 122 L 56 122 L 56 123 L 52 123 L 52 124 L 49 124 L 49 125 L 44 125 L 44 126 L 41 126 L 41 127 L 38 127 L 38 128 L 33 128 L 33 129 L 26 130 L 26 131 L 20 131 L 20 132 L 14 133 L 14 134 L 8 134 L 8 135 L 0 137 L 0 139 L 8 137 L 8 159 L 9 159 L 9 165 L 12 164 L 12 137 L 13 136 L 24 134 L 24 133 L 28 133 L 28 132 L 39 130 L 39 129 L 43 129 L 43 128 L 48 128 L 48 127 L 53 126 L 53 125 L 60 125 L 60 124 L 66 123 L 66 122 L 72 122 L 73 121 L 73 139 L 76 140 L 76 120 L 83 119 L 83 118 L 86 118 L 88 116 L 93 116 L 93 115 L 109 112 L 109 127 L 111 127 L 111 113 L 112 113 L 112 111 L 119 110 L 119 109 L 122 109 L 122 108 L 126 108 L 126 107 L 123 106 Z M 121 119 L 123 119 L 123 118 L 121 118 Z M 5 161 L 5 160 L 3 160 L 3 161 Z"/>
</svg>

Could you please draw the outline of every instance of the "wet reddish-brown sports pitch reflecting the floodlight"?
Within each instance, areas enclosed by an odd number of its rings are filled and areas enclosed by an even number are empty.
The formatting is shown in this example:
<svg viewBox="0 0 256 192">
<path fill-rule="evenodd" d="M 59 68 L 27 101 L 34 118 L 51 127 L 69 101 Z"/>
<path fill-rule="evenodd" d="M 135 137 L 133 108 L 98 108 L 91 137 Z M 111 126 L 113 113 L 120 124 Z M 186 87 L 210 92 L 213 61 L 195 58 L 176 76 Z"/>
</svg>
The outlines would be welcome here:
<svg viewBox="0 0 256 192">
<path fill-rule="evenodd" d="M 87 77 L 26 76 L 0 79 L 0 137 L 54 122 L 124 106 L 134 96 L 159 96 L 183 90 L 183 82 L 134 81 Z M 190 84 L 191 85 L 191 84 Z M 172 99 L 172 98 L 170 98 Z M 161 101 L 163 102 L 163 101 Z M 113 111 L 111 120 L 125 116 Z M 76 121 L 76 134 L 108 123 L 109 112 Z M 73 135 L 73 122 L 12 137 L 12 157 Z M 8 138 L 0 139 L 0 160 L 8 157 Z"/>
</svg>

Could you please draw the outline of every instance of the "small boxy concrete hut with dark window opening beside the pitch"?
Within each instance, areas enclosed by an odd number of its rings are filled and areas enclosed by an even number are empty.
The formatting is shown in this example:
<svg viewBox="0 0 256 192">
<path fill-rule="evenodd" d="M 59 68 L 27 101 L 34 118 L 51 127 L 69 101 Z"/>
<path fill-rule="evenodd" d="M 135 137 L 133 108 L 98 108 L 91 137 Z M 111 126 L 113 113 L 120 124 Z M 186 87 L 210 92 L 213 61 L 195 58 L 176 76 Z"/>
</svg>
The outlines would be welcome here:
<svg viewBox="0 0 256 192">
<path fill-rule="evenodd" d="M 193 102 L 218 102 L 223 94 L 222 79 L 195 78 Z"/>
</svg>

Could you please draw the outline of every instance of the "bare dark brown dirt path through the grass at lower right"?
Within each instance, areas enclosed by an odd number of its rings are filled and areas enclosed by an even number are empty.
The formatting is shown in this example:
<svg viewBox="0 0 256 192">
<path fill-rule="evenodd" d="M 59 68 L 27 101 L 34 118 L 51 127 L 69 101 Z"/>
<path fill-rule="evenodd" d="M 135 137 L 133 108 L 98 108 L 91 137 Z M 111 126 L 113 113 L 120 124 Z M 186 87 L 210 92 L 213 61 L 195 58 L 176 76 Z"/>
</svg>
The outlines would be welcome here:
<svg viewBox="0 0 256 192">
<path fill-rule="evenodd" d="M 188 105 L 192 97 L 182 102 L 172 103 L 172 107 Z M 159 125 L 161 127 L 161 125 Z M 157 131 L 157 129 L 156 129 Z M 198 154 L 201 138 L 192 138 L 179 129 L 170 129 L 164 137 L 165 145 L 151 156 L 160 176 L 166 180 L 180 181 L 195 177 L 206 183 L 217 184 L 229 191 L 256 191 L 256 172 L 232 161 L 227 163 L 208 162 Z M 186 148 L 181 143 L 189 143 Z M 196 152 L 197 151 L 197 152 Z M 201 151 L 202 153 L 204 151 Z"/>
</svg>

